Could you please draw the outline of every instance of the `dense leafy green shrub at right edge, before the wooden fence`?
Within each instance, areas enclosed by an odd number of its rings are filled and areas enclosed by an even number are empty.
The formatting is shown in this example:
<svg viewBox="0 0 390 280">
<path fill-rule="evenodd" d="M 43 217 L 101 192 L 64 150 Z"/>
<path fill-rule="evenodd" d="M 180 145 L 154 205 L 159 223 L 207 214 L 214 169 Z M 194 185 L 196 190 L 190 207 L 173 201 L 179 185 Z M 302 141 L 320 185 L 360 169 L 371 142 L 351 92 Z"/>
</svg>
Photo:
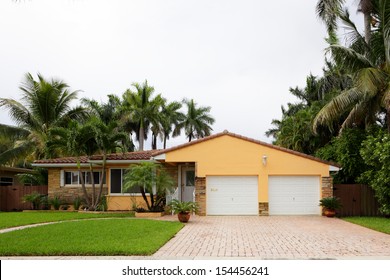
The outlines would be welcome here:
<svg viewBox="0 0 390 280">
<path fill-rule="evenodd" d="M 379 130 L 363 142 L 361 156 L 370 169 L 365 171 L 360 181 L 375 191 L 380 210 L 390 215 L 390 134 Z"/>
</svg>

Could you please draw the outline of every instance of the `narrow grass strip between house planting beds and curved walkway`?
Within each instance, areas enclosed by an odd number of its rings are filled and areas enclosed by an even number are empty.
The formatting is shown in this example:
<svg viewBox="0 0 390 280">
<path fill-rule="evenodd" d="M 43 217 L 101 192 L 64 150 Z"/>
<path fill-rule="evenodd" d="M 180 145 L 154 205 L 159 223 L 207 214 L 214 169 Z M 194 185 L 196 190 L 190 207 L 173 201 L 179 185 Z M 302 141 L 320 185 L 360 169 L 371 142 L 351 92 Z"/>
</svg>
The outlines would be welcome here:
<svg viewBox="0 0 390 280">
<path fill-rule="evenodd" d="M 62 211 L 0 212 L 0 229 L 75 219 L 133 217 L 133 213 L 79 213 Z"/>
</svg>

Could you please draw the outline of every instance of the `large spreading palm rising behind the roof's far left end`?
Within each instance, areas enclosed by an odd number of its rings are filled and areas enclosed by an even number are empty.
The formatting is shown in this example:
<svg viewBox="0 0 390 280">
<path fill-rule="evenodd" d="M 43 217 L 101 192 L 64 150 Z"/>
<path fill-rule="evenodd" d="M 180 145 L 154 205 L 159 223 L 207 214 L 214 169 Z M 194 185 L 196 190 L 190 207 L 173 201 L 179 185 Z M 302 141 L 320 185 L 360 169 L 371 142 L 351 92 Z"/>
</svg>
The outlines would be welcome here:
<svg viewBox="0 0 390 280">
<path fill-rule="evenodd" d="M 72 119 L 80 120 L 85 117 L 85 109 L 78 106 L 70 108 L 70 103 L 77 98 L 78 91 L 69 91 L 69 86 L 61 80 L 46 80 L 38 74 L 34 80 L 30 73 L 20 87 L 22 101 L 0 98 L 0 107 L 9 109 L 11 119 L 16 122 L 19 133 L 25 136 L 15 149 L 8 155 L 22 153 L 34 159 L 45 157 L 45 146 L 48 131 L 51 127 L 65 126 Z M 3 129 L 6 126 L 1 125 Z M 14 130 L 16 131 L 16 130 Z M 23 132 L 22 132 L 23 131 Z"/>
</svg>

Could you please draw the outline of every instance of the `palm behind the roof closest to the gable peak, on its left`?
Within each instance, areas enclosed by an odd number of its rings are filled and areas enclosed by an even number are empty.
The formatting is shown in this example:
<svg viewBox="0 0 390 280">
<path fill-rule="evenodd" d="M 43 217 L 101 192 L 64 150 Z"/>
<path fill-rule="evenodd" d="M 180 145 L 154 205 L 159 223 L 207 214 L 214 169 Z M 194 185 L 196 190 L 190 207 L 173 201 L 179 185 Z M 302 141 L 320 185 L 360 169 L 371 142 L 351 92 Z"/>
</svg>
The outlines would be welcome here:
<svg viewBox="0 0 390 280">
<path fill-rule="evenodd" d="M 183 103 L 187 106 L 187 113 L 179 127 L 184 127 L 188 142 L 193 138 L 209 136 L 213 130 L 211 125 L 215 122 L 209 114 L 211 107 L 197 107 L 193 99 L 184 99 Z"/>
</svg>

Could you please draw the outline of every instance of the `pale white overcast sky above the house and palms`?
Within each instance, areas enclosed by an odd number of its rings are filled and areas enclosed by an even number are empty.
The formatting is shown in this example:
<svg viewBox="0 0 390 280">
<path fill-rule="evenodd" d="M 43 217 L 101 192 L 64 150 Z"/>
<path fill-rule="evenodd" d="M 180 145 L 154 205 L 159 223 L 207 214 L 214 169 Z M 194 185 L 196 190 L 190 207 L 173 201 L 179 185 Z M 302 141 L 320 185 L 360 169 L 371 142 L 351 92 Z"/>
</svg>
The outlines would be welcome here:
<svg viewBox="0 0 390 280">
<path fill-rule="evenodd" d="M 271 120 L 296 101 L 289 88 L 322 72 L 316 2 L 1 0 L 0 96 L 19 99 L 26 72 L 98 101 L 147 79 L 169 101 L 211 106 L 215 133 L 271 142 Z M 0 110 L 0 122 L 13 124 Z"/>
</svg>

